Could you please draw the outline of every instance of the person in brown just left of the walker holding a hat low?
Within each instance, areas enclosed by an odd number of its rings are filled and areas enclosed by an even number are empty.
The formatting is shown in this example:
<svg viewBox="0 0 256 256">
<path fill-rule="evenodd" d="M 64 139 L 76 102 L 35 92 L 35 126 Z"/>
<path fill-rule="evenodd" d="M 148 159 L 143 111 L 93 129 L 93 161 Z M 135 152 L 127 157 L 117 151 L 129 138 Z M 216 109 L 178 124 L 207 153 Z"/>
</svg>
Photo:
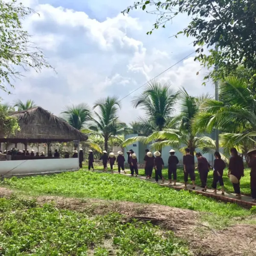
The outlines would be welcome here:
<svg viewBox="0 0 256 256">
<path fill-rule="evenodd" d="M 225 162 L 221 159 L 221 154 L 216 151 L 214 153 L 214 165 L 213 165 L 213 181 L 212 188 L 214 189 L 213 193 L 217 193 L 217 183 L 221 185 L 221 195 L 225 194 L 224 181 L 223 181 L 223 171 L 226 167 Z"/>
</svg>

